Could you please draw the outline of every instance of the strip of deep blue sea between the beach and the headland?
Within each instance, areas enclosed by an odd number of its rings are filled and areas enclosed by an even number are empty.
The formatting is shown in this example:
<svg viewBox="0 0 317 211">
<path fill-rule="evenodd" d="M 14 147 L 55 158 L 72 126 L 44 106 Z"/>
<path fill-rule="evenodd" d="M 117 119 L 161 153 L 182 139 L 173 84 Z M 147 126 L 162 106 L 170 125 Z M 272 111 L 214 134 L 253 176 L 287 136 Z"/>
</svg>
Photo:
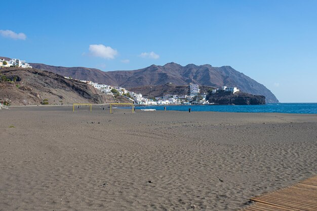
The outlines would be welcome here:
<svg viewBox="0 0 317 211">
<path fill-rule="evenodd" d="M 217 112 L 252 112 L 252 113 L 302 113 L 317 114 L 317 103 L 274 103 L 265 105 L 160 105 L 136 106 L 136 109 L 156 109 L 171 111 L 217 111 Z"/>
</svg>

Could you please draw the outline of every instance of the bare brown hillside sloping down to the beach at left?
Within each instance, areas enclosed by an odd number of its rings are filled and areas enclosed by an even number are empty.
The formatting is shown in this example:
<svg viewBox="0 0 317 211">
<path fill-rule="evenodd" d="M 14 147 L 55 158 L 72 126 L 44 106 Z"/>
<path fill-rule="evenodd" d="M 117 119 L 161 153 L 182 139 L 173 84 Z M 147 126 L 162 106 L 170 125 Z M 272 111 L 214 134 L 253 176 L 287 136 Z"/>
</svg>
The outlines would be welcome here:
<svg viewBox="0 0 317 211">
<path fill-rule="evenodd" d="M 115 102 L 86 83 L 29 68 L 0 69 L 0 99 L 8 99 L 11 105 L 40 105 L 44 99 L 49 104 Z"/>
</svg>

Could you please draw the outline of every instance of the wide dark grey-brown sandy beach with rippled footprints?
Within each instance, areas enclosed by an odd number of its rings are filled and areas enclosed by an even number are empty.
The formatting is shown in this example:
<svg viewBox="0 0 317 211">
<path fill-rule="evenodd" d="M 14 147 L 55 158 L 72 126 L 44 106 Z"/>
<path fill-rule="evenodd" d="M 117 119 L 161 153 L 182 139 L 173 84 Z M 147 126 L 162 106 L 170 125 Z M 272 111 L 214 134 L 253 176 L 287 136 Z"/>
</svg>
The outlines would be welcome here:
<svg viewBox="0 0 317 211">
<path fill-rule="evenodd" d="M 0 210 L 236 210 L 317 174 L 317 115 L 0 111 Z"/>
</svg>

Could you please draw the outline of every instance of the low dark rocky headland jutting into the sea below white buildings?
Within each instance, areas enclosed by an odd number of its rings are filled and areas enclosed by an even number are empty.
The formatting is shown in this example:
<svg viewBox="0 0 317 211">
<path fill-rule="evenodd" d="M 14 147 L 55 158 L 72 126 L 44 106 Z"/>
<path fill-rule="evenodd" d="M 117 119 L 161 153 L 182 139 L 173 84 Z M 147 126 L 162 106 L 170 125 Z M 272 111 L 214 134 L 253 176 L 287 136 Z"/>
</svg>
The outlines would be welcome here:
<svg viewBox="0 0 317 211">
<path fill-rule="evenodd" d="M 265 96 L 251 95 L 243 92 L 219 92 L 210 94 L 209 103 L 216 105 L 264 105 Z"/>
</svg>

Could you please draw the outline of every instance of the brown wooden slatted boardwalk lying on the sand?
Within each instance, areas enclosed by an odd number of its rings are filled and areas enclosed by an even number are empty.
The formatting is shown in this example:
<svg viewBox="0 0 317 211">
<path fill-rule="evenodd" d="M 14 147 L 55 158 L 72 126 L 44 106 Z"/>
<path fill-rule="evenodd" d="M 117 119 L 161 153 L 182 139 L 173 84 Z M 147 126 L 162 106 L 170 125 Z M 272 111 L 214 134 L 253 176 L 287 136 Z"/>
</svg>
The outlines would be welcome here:
<svg viewBox="0 0 317 211">
<path fill-rule="evenodd" d="M 317 176 L 296 185 L 251 198 L 254 204 L 241 211 L 317 211 Z"/>
</svg>

